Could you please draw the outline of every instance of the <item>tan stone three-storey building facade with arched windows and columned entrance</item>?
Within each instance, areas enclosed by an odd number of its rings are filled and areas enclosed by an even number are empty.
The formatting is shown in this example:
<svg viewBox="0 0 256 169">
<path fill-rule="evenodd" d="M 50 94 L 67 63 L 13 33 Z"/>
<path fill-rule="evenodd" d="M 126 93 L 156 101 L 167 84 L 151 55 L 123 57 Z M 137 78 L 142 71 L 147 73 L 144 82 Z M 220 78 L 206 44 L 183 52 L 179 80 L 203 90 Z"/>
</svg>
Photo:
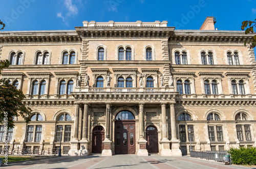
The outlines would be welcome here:
<svg viewBox="0 0 256 169">
<path fill-rule="evenodd" d="M 60 139 L 69 155 L 181 156 L 189 138 L 195 151 L 256 146 L 256 62 L 243 43 L 251 35 L 214 23 L 175 30 L 167 21 L 83 21 L 72 31 L 1 32 L 1 59 L 11 62 L 2 78 L 32 109 L 28 124 L 15 117 L 9 152 L 43 154 Z"/>
</svg>

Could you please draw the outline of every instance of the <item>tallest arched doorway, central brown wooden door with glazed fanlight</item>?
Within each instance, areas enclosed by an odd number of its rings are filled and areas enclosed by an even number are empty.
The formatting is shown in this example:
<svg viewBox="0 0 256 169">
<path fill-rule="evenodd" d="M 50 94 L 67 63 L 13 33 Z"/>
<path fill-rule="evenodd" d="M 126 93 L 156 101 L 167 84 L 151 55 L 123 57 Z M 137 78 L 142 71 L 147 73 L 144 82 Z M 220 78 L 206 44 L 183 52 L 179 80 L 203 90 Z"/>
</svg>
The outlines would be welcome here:
<svg viewBox="0 0 256 169">
<path fill-rule="evenodd" d="M 115 154 L 135 154 L 135 121 L 132 112 L 123 110 L 115 121 Z"/>
</svg>

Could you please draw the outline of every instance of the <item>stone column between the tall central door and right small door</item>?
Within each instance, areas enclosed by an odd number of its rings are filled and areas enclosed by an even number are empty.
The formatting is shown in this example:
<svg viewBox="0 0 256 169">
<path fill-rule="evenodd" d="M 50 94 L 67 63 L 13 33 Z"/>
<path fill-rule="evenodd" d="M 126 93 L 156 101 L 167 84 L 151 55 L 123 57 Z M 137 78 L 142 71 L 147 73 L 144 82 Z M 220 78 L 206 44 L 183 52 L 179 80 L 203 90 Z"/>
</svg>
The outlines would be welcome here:
<svg viewBox="0 0 256 169">
<path fill-rule="evenodd" d="M 139 133 L 140 137 L 138 140 L 139 150 L 137 152 L 138 156 L 148 156 L 148 152 L 146 150 L 147 141 L 144 138 L 144 103 L 139 103 Z"/>
</svg>

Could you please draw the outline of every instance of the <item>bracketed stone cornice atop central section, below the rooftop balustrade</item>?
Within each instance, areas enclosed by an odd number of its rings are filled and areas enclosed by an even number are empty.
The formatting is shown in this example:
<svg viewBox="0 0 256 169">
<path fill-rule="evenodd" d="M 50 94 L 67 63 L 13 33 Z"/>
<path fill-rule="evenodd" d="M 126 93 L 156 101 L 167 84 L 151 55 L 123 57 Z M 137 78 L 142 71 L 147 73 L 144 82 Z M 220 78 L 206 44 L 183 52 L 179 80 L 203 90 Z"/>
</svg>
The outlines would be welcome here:
<svg viewBox="0 0 256 169">
<path fill-rule="evenodd" d="M 75 27 L 81 38 L 169 38 L 175 27 Z"/>
</svg>

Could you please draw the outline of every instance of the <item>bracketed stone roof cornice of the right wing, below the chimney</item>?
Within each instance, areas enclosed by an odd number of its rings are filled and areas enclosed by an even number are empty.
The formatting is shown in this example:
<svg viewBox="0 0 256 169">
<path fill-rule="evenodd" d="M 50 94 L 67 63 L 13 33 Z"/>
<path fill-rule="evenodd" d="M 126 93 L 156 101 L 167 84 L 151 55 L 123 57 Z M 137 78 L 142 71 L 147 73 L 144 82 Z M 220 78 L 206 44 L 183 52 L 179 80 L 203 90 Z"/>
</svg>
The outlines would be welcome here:
<svg viewBox="0 0 256 169">
<path fill-rule="evenodd" d="M 244 31 L 202 31 L 175 30 L 169 39 L 171 43 L 244 43 L 256 34 L 245 34 Z"/>
</svg>

